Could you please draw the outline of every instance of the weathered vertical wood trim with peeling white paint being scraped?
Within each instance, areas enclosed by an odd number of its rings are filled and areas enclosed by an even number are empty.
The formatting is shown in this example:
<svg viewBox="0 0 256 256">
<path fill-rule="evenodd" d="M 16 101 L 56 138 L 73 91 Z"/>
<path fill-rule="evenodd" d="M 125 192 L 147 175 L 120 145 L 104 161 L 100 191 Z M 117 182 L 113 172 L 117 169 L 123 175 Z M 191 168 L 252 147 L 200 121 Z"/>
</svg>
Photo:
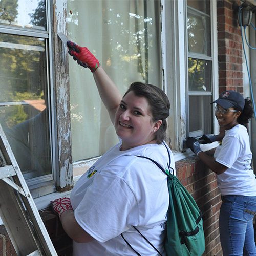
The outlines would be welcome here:
<svg viewBox="0 0 256 256">
<path fill-rule="evenodd" d="M 73 187 L 68 51 L 57 36 L 57 32 L 67 35 L 66 0 L 53 0 L 52 26 L 57 116 L 56 189 L 63 192 Z"/>
</svg>

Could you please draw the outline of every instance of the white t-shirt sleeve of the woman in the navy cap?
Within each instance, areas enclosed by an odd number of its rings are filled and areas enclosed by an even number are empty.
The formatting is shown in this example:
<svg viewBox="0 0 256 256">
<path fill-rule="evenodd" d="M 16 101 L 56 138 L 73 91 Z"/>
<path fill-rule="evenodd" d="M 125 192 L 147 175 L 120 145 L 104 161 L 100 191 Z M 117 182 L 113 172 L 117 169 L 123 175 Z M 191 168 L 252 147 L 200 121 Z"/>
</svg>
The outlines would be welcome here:
<svg viewBox="0 0 256 256">
<path fill-rule="evenodd" d="M 238 157 L 243 151 L 241 142 L 232 136 L 229 136 L 222 141 L 221 150 L 219 151 L 216 161 L 220 164 L 231 168 L 234 162 L 237 161 Z"/>
</svg>

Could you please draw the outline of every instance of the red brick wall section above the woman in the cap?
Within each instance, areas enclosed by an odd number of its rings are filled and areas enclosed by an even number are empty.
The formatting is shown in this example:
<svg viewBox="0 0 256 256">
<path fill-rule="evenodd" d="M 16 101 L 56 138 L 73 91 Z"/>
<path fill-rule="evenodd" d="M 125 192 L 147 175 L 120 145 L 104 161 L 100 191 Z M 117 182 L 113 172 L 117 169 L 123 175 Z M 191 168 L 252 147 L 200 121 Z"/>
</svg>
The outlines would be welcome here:
<svg viewBox="0 0 256 256">
<path fill-rule="evenodd" d="M 219 93 L 235 90 L 243 93 L 243 51 L 241 29 L 237 21 L 240 1 L 217 1 Z"/>
</svg>

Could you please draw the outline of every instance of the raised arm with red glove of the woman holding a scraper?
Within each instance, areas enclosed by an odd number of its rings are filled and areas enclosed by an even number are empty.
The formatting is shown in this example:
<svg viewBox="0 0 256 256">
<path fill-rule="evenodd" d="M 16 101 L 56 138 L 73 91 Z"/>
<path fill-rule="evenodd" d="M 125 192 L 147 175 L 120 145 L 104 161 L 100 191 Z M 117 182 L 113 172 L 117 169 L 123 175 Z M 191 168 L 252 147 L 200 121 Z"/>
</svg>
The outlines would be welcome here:
<svg viewBox="0 0 256 256">
<path fill-rule="evenodd" d="M 77 60 L 77 63 L 84 68 L 89 68 L 93 73 L 100 98 L 114 124 L 115 113 L 122 98 L 121 93 L 87 47 L 80 47 L 71 41 L 68 41 L 67 45 L 69 47 L 69 54 L 73 56 L 73 59 Z"/>
</svg>

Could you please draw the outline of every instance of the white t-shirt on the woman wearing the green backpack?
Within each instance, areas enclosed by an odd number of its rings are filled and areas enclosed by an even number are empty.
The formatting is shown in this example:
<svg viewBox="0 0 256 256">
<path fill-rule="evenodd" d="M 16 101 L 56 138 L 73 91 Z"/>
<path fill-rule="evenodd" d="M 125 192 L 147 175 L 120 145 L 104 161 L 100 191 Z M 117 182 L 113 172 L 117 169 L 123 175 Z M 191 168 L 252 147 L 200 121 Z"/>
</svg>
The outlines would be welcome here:
<svg viewBox="0 0 256 256">
<path fill-rule="evenodd" d="M 135 155 L 152 158 L 167 168 L 167 150 L 163 144 L 147 144 L 120 151 L 120 145 L 106 152 L 72 190 L 76 221 L 95 239 L 90 243 L 73 242 L 73 255 L 135 255 L 120 233 L 138 253 L 157 255 L 132 226 L 165 255 L 167 176 L 150 160 Z M 170 150 L 169 154 L 175 172 Z"/>
</svg>

